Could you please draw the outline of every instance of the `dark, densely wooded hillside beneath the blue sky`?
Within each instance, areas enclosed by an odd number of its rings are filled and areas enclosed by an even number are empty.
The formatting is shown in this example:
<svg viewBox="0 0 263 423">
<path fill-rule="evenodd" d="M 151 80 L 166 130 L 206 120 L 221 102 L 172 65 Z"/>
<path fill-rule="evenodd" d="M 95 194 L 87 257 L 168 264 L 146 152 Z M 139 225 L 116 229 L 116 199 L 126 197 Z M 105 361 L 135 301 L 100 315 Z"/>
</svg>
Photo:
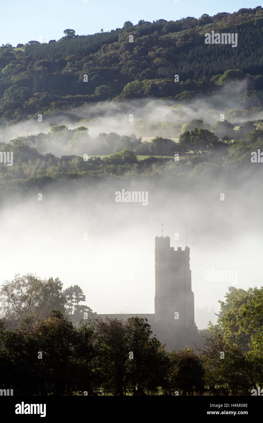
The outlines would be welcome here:
<svg viewBox="0 0 263 423">
<path fill-rule="evenodd" d="M 125 22 L 94 35 L 68 30 L 58 41 L 1 47 L 0 124 L 107 99 L 152 97 L 180 103 L 245 78 L 246 89 L 254 91 L 249 106 L 260 107 L 262 28 L 263 8 L 258 6 L 199 19 Z M 237 47 L 205 44 L 204 35 L 212 30 L 237 33 Z"/>
</svg>

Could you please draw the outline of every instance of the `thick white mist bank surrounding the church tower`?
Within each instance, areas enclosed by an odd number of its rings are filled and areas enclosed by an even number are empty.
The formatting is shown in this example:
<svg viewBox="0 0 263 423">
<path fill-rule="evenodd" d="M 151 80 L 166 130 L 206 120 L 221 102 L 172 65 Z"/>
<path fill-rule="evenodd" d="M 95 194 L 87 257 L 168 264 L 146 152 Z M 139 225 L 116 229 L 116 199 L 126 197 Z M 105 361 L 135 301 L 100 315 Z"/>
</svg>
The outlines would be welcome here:
<svg viewBox="0 0 263 423">
<path fill-rule="evenodd" d="M 122 188 L 148 191 L 148 205 L 116 203 L 115 192 Z M 43 201 L 37 199 L 39 192 Z M 220 201 L 222 192 L 225 201 Z M 260 183 L 247 177 L 240 179 L 239 191 L 223 179 L 191 180 L 184 187 L 168 179 L 165 184 L 113 179 L 74 181 L 66 188 L 57 183 L 10 196 L 1 209 L 1 280 L 27 272 L 59 277 L 64 288 L 81 286 L 87 305 L 98 314 L 154 313 L 155 236 L 163 224 L 171 246 L 184 249 L 187 220 L 195 307 L 218 312 L 228 286 L 262 285 L 263 230 L 256 223 L 261 192 Z M 205 272 L 212 268 L 237 271 L 237 282 L 206 282 Z M 205 317 L 205 311 L 197 313 L 199 329 Z"/>
</svg>

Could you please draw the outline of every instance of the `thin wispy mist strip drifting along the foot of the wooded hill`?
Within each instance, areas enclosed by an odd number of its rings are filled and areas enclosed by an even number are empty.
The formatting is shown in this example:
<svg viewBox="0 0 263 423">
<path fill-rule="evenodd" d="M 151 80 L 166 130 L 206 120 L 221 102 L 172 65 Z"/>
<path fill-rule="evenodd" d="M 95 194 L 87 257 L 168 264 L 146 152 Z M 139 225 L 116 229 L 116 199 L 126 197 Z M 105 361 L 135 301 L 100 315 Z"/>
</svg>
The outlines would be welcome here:
<svg viewBox="0 0 263 423">
<path fill-rule="evenodd" d="M 16 124 L 0 126 L 0 141 L 8 143 L 16 137 L 37 135 L 40 132 L 47 134 L 52 126 L 65 125 L 69 129 L 76 129 L 79 126 L 88 128 L 89 143 L 92 150 L 96 150 L 96 140 L 100 133 L 106 134 L 116 132 L 121 135 L 135 134 L 141 137 L 163 136 L 162 124 L 171 123 L 171 134 L 169 137 L 178 138 L 181 134 L 181 127 L 192 119 L 202 119 L 204 126 L 209 126 L 220 120 L 220 115 L 231 123 L 236 123 L 228 116 L 232 109 L 240 110 L 239 122 L 255 121 L 263 118 L 261 107 L 256 110 L 246 110 L 239 102 L 239 95 L 248 89 L 249 81 L 245 78 L 242 81 L 232 81 L 219 88 L 217 93 L 210 96 L 195 96 L 192 100 L 176 102 L 175 99 L 127 99 L 125 101 L 85 103 L 79 108 L 72 108 L 67 112 L 43 113 L 42 121 L 32 118 Z M 177 105 L 178 107 L 174 107 Z M 235 119 L 236 121 L 237 119 Z M 72 135 L 73 136 L 73 135 Z M 87 139 L 84 137 L 83 140 Z M 50 152 L 60 157 L 63 154 L 73 154 L 69 151 L 68 138 L 54 140 L 46 145 L 36 143 L 33 147 L 39 152 Z M 87 153 L 87 151 L 84 151 Z M 84 153 L 83 152 L 83 153 Z M 93 154 L 93 153 L 92 153 Z"/>
</svg>

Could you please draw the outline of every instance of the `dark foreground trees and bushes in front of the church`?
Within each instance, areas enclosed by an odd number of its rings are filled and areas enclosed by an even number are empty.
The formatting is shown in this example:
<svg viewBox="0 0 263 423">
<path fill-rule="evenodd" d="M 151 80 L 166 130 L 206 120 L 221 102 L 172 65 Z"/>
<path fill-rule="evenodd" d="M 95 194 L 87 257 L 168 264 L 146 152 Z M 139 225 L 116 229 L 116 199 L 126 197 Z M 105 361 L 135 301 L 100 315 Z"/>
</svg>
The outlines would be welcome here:
<svg viewBox="0 0 263 423">
<path fill-rule="evenodd" d="M 230 287 L 217 324 L 177 351 L 147 319 L 99 318 L 58 278 L 16 275 L 0 300 L 0 389 L 16 396 L 250 396 L 263 383 L 263 288 Z"/>
</svg>

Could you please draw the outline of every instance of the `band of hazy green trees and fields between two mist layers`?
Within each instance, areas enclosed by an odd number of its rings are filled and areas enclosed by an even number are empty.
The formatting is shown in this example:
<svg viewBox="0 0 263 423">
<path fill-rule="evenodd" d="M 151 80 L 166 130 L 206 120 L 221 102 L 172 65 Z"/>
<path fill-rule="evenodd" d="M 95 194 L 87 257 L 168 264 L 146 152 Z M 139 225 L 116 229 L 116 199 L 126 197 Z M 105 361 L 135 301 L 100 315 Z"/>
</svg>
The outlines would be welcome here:
<svg viewBox="0 0 263 423">
<path fill-rule="evenodd" d="M 52 185 L 55 181 L 65 185 L 76 176 L 83 181 L 87 178 L 96 181 L 118 177 L 161 180 L 172 176 L 180 180 L 184 175 L 184 180 L 194 176 L 198 181 L 203 179 L 204 173 L 208 174 L 207 166 L 212 180 L 216 170 L 228 184 L 234 184 L 239 168 L 261 174 L 259 167 L 251 168 L 252 154 L 263 146 L 263 130 L 257 129 L 261 124 L 261 121 L 245 122 L 240 129 L 233 130 L 233 125 L 218 121 L 214 132 L 221 135 L 220 139 L 208 129 L 195 128 L 184 131 L 178 142 L 158 136 L 142 141 L 134 134 L 120 136 L 113 132 L 92 138 L 83 126 L 74 130 L 65 125 L 54 126 L 47 134 L 18 137 L 2 144 L 3 152 L 13 152 L 14 163 L 12 166 L 2 164 L 0 187 L 26 191 L 34 186 Z M 246 139 L 238 139 L 242 135 Z M 57 157 L 50 152 L 40 153 L 36 147 L 41 151 L 64 150 L 67 154 Z"/>
</svg>

